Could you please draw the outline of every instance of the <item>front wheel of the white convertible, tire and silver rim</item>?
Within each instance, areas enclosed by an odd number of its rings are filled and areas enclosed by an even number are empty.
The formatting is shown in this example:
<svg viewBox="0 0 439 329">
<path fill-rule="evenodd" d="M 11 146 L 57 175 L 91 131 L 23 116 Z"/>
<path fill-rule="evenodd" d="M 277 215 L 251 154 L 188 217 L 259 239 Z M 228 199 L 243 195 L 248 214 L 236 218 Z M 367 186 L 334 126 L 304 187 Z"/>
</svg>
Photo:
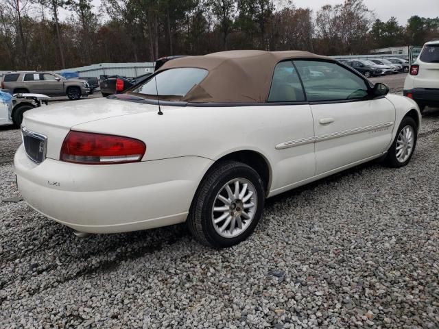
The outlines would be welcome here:
<svg viewBox="0 0 439 329">
<path fill-rule="evenodd" d="M 405 117 L 399 125 L 396 138 L 388 150 L 385 161 L 390 167 L 404 167 L 410 162 L 418 139 L 418 127 L 414 119 Z"/>
</svg>

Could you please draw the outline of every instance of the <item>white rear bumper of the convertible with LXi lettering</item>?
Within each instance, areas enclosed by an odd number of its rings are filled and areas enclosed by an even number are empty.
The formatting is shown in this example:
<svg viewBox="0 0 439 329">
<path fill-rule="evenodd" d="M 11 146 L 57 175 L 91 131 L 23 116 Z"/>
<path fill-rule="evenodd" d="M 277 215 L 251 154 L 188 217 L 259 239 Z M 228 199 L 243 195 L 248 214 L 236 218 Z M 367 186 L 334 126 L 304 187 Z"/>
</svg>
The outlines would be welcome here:
<svg viewBox="0 0 439 329">
<path fill-rule="evenodd" d="M 46 158 L 36 164 L 23 146 L 14 157 L 19 191 L 29 206 L 88 233 L 145 230 L 185 221 L 212 162 L 184 157 L 93 166 Z"/>
</svg>

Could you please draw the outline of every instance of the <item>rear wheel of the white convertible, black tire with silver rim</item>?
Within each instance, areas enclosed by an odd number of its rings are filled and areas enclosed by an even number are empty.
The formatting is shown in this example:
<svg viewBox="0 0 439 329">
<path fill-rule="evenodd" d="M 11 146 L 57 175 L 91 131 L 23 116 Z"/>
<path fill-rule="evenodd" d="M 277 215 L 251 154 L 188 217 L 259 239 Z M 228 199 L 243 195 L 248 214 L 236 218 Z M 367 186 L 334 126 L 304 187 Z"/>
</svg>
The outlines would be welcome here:
<svg viewBox="0 0 439 329">
<path fill-rule="evenodd" d="M 189 231 L 200 243 L 215 248 L 244 241 L 261 219 L 263 186 L 257 171 L 247 164 L 218 162 L 195 193 L 187 218 Z"/>
</svg>

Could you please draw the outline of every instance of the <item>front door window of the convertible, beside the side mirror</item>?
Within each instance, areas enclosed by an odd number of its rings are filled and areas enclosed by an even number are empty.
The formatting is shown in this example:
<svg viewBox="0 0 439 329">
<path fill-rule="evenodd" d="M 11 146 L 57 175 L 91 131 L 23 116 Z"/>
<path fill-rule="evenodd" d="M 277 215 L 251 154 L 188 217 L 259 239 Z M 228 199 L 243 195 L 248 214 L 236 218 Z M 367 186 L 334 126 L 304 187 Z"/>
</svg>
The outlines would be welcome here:
<svg viewBox="0 0 439 329">
<path fill-rule="evenodd" d="M 368 96 L 366 82 L 355 73 L 332 62 L 294 61 L 308 101 L 362 99 Z"/>
</svg>

